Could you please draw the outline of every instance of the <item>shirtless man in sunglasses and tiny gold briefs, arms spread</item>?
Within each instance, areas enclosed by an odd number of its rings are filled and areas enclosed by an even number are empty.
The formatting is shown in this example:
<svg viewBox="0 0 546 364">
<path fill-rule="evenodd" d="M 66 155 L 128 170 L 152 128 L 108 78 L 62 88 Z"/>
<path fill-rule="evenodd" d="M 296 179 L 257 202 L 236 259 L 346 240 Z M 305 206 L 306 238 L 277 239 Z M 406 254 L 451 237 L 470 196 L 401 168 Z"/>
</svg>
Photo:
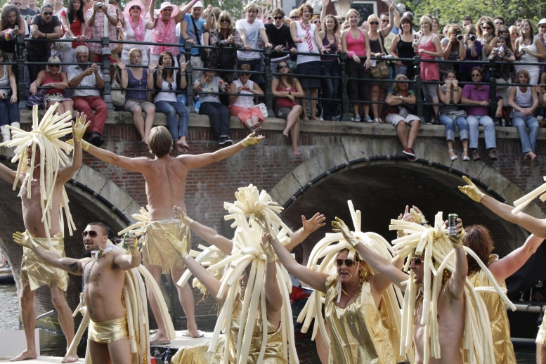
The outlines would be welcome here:
<svg viewBox="0 0 546 364">
<path fill-rule="evenodd" d="M 82 232 L 85 251 L 103 250 L 108 240 L 108 228 L 103 223 L 89 223 Z M 13 240 L 36 253 L 43 261 L 84 280 L 84 304 L 89 324 L 87 348 L 92 363 L 131 364 L 131 348 L 122 303 L 125 271 L 141 264 L 141 253 L 134 238 L 125 240 L 128 251 L 113 250 L 84 259 L 65 258 L 39 246 L 27 234 L 15 233 Z"/>
</svg>

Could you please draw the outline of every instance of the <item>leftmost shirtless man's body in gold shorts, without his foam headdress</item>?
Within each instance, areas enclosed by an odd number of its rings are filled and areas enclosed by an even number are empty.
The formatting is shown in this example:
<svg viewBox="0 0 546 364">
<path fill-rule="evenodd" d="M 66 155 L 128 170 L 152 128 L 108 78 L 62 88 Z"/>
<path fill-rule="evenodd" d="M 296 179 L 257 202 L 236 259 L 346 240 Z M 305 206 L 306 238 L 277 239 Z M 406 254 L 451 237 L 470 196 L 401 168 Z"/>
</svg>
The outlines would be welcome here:
<svg viewBox="0 0 546 364">
<path fill-rule="evenodd" d="M 72 155 L 72 162 L 67 164 L 66 167 L 58 170 L 56 185 L 53 190 L 53 202 L 51 208 L 51 229 L 49 230 L 49 236 L 53 242 L 53 251 L 56 254 L 62 256 L 65 255 L 65 245 L 63 242 L 62 227 L 58 216 L 60 214 L 60 202 L 63 194 L 63 187 L 65 183 L 70 181 L 70 178 L 74 176 L 74 173 L 82 166 L 82 148 L 79 141 L 84 135 L 86 124 L 84 119 L 79 119 L 79 113 L 77 115 L 77 123 L 72 122 L 72 134 L 74 141 L 74 154 Z M 32 147 L 27 152 L 27 163 L 30 163 L 32 158 Z M 40 150 L 37 148 L 35 160 L 39 161 Z M 0 164 L 0 178 L 7 183 L 13 184 L 17 173 L 4 164 Z M 32 178 L 30 198 L 27 198 L 26 190 L 26 178 Z M 22 188 L 22 219 L 25 223 L 27 233 L 35 238 L 41 247 L 48 248 L 48 239 L 46 238 L 46 228 L 44 222 L 42 222 L 42 210 L 40 205 L 40 169 L 34 168 L 34 174 L 32 176 L 24 176 L 18 181 L 19 188 Z M 53 217 L 56 216 L 56 217 Z M 20 361 L 27 359 L 37 358 L 36 343 L 34 339 L 34 328 L 36 327 L 36 313 L 34 313 L 34 290 L 42 285 L 48 285 L 51 290 L 51 301 L 55 307 L 60 323 L 60 327 L 66 337 L 67 346 L 70 345 L 74 338 L 74 318 L 72 318 L 72 311 L 66 303 L 65 295 L 63 291 L 68 287 L 67 273 L 48 266 L 44 266 L 43 262 L 37 258 L 35 254 L 29 249 L 23 249 L 22 264 L 21 264 L 21 317 L 22 325 L 25 329 L 25 337 L 27 338 L 27 349 L 20 353 L 19 356 L 11 359 L 11 361 Z M 73 363 L 78 360 L 77 355 L 66 355 L 63 358 L 63 363 Z"/>
</svg>

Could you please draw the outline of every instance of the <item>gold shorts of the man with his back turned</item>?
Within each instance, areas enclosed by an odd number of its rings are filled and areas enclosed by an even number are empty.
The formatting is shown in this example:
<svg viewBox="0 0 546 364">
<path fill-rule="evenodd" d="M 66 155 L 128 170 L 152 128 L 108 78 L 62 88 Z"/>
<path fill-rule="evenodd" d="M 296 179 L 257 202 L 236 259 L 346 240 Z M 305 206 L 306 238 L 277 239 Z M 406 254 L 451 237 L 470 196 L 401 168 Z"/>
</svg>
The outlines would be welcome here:
<svg viewBox="0 0 546 364">
<path fill-rule="evenodd" d="M 150 221 L 146 228 L 146 235 L 142 243 L 142 257 L 144 265 L 160 266 L 162 273 L 167 274 L 171 268 L 186 267 L 180 255 L 165 239 L 165 233 L 171 233 L 178 240 L 186 237 L 188 251 L 191 249 L 190 228 L 180 220 Z"/>
</svg>

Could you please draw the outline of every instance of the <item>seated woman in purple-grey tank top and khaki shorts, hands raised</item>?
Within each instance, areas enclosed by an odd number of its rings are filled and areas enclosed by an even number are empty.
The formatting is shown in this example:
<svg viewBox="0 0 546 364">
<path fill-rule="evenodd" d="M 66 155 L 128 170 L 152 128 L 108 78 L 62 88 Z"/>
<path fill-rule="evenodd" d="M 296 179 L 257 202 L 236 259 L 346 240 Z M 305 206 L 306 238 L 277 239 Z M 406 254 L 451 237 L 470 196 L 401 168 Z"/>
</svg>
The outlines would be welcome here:
<svg viewBox="0 0 546 364">
<path fill-rule="evenodd" d="M 144 49 L 144 52 L 146 50 Z M 138 48 L 129 51 L 129 60 L 131 65 L 141 65 L 143 52 Z M 148 65 L 148 69 L 142 67 L 126 67 L 122 58 L 117 58 L 117 66 L 121 72 L 122 89 L 141 89 L 143 91 L 129 90 L 125 93 L 124 111 L 133 113 L 133 122 L 138 134 L 141 135 L 142 143 L 148 145 L 148 136 L 154 124 L 155 105 L 148 102 L 148 92 L 154 88 L 153 65 Z M 146 113 L 146 119 L 143 119 L 142 112 Z"/>
</svg>

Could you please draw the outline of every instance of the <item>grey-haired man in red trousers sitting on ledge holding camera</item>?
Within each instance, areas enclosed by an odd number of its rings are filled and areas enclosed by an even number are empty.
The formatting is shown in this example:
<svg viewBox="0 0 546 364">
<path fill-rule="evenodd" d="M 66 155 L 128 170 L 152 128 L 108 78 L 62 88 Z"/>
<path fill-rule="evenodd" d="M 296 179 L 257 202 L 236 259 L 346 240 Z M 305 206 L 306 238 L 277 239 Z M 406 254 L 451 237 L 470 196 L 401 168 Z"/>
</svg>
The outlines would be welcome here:
<svg viewBox="0 0 546 364">
<path fill-rule="evenodd" d="M 77 47 L 76 59 L 78 63 L 89 63 L 89 48 L 86 46 Z M 100 67 L 96 63 L 68 67 L 68 85 L 75 88 L 72 93 L 74 108 L 87 115 L 87 119 L 91 122 L 87 128 L 87 133 L 91 133 L 87 141 L 100 147 L 104 143 L 102 134 L 108 115 L 108 106 L 100 98 L 100 91 L 98 91 L 104 87 Z M 96 111 L 95 115 L 93 115 L 93 110 Z"/>
</svg>

